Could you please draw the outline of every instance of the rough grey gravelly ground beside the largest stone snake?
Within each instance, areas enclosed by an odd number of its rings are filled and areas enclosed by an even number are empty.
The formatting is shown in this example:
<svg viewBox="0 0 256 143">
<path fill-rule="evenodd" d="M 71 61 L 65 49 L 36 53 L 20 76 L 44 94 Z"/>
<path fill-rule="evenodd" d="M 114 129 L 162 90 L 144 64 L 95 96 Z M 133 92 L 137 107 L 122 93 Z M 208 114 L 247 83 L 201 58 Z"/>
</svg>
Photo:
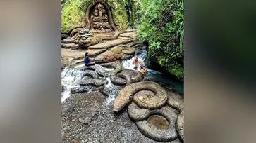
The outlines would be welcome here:
<svg viewBox="0 0 256 143">
<path fill-rule="evenodd" d="M 72 95 L 62 103 L 62 141 L 69 142 L 157 142 L 142 135 L 127 111 L 114 116 L 113 103 L 106 106 L 102 93 Z M 171 143 L 178 143 L 179 139 Z"/>
</svg>

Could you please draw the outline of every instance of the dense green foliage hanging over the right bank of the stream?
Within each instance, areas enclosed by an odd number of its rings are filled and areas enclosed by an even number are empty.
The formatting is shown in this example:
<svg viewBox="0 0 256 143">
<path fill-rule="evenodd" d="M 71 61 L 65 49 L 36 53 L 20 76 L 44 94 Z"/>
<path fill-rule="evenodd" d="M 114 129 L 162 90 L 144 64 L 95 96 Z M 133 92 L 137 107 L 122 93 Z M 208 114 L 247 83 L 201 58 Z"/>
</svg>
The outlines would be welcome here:
<svg viewBox="0 0 256 143">
<path fill-rule="evenodd" d="M 147 62 L 183 79 L 183 0 L 138 0 L 138 37 L 150 42 Z"/>
</svg>

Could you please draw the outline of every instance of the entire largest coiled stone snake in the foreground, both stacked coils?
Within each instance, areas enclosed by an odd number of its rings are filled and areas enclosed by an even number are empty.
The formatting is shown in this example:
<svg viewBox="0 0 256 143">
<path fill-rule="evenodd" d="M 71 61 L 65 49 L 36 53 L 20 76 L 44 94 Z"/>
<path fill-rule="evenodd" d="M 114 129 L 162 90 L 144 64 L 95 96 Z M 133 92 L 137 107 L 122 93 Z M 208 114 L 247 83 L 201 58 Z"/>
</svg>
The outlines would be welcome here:
<svg viewBox="0 0 256 143">
<path fill-rule="evenodd" d="M 159 142 L 169 142 L 179 137 L 183 142 L 183 104 L 174 100 L 159 84 L 141 81 L 123 88 L 114 100 L 113 111 L 119 114 L 126 107 L 128 116 L 146 137 Z M 166 119 L 167 128 L 157 128 L 148 121 L 156 115 Z"/>
</svg>

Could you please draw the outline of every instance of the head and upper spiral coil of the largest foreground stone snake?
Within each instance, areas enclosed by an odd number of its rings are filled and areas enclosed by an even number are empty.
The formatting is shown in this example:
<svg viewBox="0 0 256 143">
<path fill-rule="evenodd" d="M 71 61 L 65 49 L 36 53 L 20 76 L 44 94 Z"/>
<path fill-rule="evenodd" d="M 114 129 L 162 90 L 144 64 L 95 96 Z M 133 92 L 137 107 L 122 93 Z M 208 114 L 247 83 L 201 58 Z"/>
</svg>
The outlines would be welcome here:
<svg viewBox="0 0 256 143">
<path fill-rule="evenodd" d="M 152 81 L 133 83 L 123 88 L 114 100 L 114 112 L 118 113 L 132 102 L 141 108 L 159 109 L 166 104 L 168 96 L 165 90 Z"/>
</svg>

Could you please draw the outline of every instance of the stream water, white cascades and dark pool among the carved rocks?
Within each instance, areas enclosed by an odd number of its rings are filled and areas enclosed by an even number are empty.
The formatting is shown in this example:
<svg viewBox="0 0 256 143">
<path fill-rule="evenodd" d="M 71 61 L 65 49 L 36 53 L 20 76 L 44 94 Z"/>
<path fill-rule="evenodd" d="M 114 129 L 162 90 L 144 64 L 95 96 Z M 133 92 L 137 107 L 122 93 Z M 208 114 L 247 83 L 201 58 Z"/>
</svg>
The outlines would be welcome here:
<svg viewBox="0 0 256 143">
<path fill-rule="evenodd" d="M 145 59 L 147 57 L 147 50 L 145 49 L 145 47 L 142 47 L 142 50 L 140 53 L 135 53 L 135 56 L 137 56 L 138 60 L 140 60 L 142 64 L 144 64 Z M 134 68 L 134 65 L 132 64 L 133 60 L 134 60 L 134 57 L 128 60 L 122 60 L 121 64 L 126 69 L 133 69 Z M 78 84 L 78 81 L 82 78 L 82 72 L 83 72 L 83 71 L 80 71 L 80 68 L 84 66 L 85 66 L 84 64 L 80 64 L 73 68 L 66 67 L 61 72 L 61 87 L 63 89 L 63 92 L 61 92 L 61 102 L 64 102 L 68 97 L 71 96 L 72 88 L 80 87 L 80 85 Z M 100 66 L 100 65 L 96 64 L 96 66 Z M 113 69 L 104 68 L 104 70 L 111 71 Z M 104 85 L 106 86 L 106 88 L 110 89 L 109 90 L 110 93 L 108 93 L 109 97 L 107 97 L 105 101 L 106 106 L 108 106 L 111 102 L 115 100 L 115 97 L 116 95 L 118 95 L 118 91 L 121 90 L 121 87 L 112 84 L 109 77 L 104 77 L 104 78 L 106 78 L 106 80 L 109 81 L 106 85 Z M 174 81 L 171 79 L 171 77 L 166 76 L 165 74 L 162 74 L 159 71 L 147 69 L 147 74 L 145 75 L 145 78 L 149 79 L 150 81 L 161 82 L 166 85 L 172 86 L 178 93 L 183 94 L 183 83 Z"/>
</svg>

